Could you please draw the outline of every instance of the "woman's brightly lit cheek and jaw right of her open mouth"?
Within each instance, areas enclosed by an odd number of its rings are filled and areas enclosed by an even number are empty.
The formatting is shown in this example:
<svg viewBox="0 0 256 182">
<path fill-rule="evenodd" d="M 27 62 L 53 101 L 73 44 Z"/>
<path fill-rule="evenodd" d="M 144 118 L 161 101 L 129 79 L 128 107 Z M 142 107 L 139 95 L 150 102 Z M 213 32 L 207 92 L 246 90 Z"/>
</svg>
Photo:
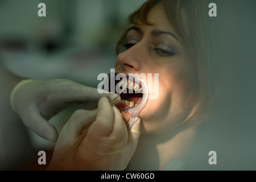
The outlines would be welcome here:
<svg viewBox="0 0 256 182">
<path fill-rule="evenodd" d="M 189 67 L 176 65 L 159 69 L 159 97 L 148 100 L 140 113 L 144 130 L 169 130 L 183 122 L 191 110 L 187 101 L 192 85 L 193 76 Z"/>
</svg>

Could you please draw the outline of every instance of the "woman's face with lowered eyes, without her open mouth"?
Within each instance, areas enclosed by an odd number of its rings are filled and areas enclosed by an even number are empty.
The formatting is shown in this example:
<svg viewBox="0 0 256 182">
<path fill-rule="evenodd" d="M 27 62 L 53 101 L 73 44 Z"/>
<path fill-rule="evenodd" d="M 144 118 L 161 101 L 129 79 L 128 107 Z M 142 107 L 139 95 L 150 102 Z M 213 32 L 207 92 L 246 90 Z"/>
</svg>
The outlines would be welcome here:
<svg viewBox="0 0 256 182">
<path fill-rule="evenodd" d="M 159 88 L 155 88 L 159 92 L 158 98 L 148 100 L 139 117 L 142 133 L 162 133 L 175 129 L 187 118 L 191 110 L 187 101 L 195 84 L 195 74 L 188 53 L 162 6 L 153 7 L 147 20 L 152 25 L 138 23 L 130 28 L 126 51 L 119 53 L 115 72 L 159 74 Z M 152 88 L 148 89 L 152 91 Z M 129 114 L 122 114 L 129 120 Z"/>
</svg>

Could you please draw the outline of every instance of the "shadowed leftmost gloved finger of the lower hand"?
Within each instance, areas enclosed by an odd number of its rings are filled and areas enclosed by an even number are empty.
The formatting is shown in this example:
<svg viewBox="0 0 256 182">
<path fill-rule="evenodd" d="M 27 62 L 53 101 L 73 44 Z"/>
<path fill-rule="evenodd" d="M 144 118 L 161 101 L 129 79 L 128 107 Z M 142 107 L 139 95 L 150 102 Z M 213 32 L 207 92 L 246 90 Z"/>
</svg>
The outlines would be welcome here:
<svg viewBox="0 0 256 182">
<path fill-rule="evenodd" d="M 64 142 L 73 143 L 86 127 L 89 127 L 89 125 L 96 119 L 96 115 L 97 110 L 76 110 L 61 130 L 60 137 L 65 137 Z M 66 136 L 68 136 L 68 138 Z"/>
</svg>

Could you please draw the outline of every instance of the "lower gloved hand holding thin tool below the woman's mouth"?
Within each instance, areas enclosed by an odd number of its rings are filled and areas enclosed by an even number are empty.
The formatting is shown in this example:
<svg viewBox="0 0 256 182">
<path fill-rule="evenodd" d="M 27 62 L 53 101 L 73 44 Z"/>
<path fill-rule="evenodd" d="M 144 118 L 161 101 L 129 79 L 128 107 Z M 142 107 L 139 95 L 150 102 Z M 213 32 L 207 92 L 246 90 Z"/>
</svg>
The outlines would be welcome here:
<svg viewBox="0 0 256 182">
<path fill-rule="evenodd" d="M 77 110 L 61 130 L 48 170 L 123 170 L 137 147 L 141 119 L 128 132 L 122 114 L 103 97 L 98 109 Z M 86 137 L 73 152 L 61 158 L 82 131 Z"/>
</svg>

